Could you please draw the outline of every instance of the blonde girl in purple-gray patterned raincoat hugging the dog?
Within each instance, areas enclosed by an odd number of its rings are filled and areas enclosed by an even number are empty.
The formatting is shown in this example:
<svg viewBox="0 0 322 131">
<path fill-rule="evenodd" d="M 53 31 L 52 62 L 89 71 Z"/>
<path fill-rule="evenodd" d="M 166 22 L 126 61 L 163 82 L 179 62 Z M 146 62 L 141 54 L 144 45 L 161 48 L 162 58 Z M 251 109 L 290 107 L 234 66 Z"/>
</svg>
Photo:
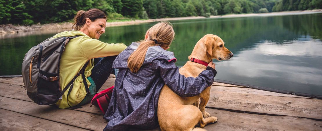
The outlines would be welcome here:
<svg viewBox="0 0 322 131">
<path fill-rule="evenodd" d="M 104 115 L 109 121 L 104 130 L 156 128 L 157 102 L 164 84 L 181 97 L 191 97 L 213 83 L 216 70 L 212 62 L 196 78 L 179 74 L 174 53 L 166 51 L 174 37 L 172 24 L 159 22 L 147 31 L 144 40 L 133 42 L 116 57 L 113 68 L 119 72 Z"/>
</svg>

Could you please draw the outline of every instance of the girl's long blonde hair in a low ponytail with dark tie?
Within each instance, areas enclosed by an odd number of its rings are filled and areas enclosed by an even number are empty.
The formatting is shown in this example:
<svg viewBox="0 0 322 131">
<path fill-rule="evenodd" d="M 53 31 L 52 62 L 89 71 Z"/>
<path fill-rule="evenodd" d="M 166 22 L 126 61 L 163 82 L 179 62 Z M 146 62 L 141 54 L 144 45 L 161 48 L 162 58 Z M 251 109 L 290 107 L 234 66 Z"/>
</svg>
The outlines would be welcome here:
<svg viewBox="0 0 322 131">
<path fill-rule="evenodd" d="M 142 66 L 147 48 L 160 46 L 167 48 L 175 38 L 175 31 L 170 22 L 159 22 L 147 30 L 148 39 L 139 41 L 140 45 L 130 57 L 128 57 L 128 68 L 133 73 L 137 73 Z"/>
</svg>

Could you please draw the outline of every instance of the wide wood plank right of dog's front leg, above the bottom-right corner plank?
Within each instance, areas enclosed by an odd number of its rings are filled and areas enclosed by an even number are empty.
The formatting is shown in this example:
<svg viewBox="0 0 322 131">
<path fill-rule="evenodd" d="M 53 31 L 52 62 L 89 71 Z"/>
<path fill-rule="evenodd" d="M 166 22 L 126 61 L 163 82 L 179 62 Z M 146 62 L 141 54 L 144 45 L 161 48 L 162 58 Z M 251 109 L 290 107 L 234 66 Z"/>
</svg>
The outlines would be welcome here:
<svg viewBox="0 0 322 131">
<path fill-rule="evenodd" d="M 211 90 L 208 107 L 322 119 L 322 100 Z"/>
</svg>

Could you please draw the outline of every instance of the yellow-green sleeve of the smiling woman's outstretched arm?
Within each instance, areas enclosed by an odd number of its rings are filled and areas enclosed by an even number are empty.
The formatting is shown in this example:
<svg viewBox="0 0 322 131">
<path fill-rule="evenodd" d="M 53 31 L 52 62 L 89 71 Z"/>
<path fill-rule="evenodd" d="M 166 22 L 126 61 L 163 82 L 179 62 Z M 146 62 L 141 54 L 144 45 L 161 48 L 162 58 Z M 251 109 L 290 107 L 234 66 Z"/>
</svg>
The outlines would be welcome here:
<svg viewBox="0 0 322 131">
<path fill-rule="evenodd" d="M 81 53 L 85 58 L 92 59 L 98 57 L 117 56 L 125 48 L 127 48 L 127 46 L 123 43 L 109 44 L 97 39 L 84 37 L 81 39 L 80 48 Z"/>
</svg>

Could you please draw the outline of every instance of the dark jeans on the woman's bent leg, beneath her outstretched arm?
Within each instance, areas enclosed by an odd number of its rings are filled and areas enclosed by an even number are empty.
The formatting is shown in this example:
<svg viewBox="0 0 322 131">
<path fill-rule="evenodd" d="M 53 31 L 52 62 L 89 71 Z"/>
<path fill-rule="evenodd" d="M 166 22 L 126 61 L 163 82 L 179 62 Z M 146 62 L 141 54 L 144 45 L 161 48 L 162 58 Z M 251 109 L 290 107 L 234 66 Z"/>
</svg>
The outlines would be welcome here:
<svg viewBox="0 0 322 131">
<path fill-rule="evenodd" d="M 96 85 L 96 91 L 103 86 L 107 78 L 111 74 L 113 68 L 112 64 L 117 56 L 103 57 L 103 58 L 94 58 L 94 67 L 92 69 L 92 74 L 90 77 L 93 79 Z"/>
</svg>

